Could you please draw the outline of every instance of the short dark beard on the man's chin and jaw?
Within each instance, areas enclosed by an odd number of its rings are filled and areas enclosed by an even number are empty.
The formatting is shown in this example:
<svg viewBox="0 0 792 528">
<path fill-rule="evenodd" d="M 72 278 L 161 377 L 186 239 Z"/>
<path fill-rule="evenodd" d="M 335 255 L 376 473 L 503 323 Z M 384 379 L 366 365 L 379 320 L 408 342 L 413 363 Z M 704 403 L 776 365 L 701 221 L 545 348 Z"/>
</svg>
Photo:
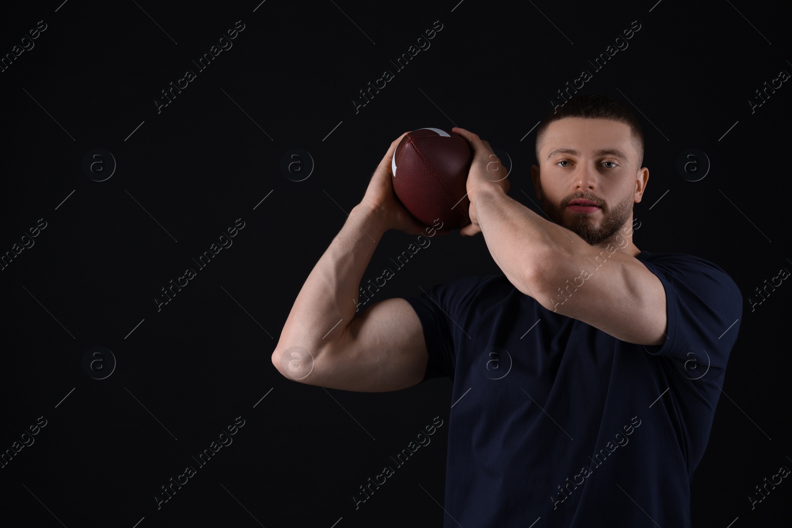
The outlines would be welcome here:
<svg viewBox="0 0 792 528">
<path fill-rule="evenodd" d="M 630 219 L 630 215 L 632 214 L 634 201 L 633 193 L 630 193 L 630 195 L 626 196 L 619 203 L 616 203 L 614 207 L 611 207 L 608 203 L 604 203 L 604 201 L 597 196 L 581 192 L 566 196 L 562 199 L 561 203 L 569 203 L 571 200 L 578 198 L 590 199 L 600 206 L 600 212 L 603 218 L 600 220 L 599 225 L 593 218 L 594 215 L 573 213 L 574 218 L 572 223 L 567 226 L 563 222 L 560 209 L 548 203 L 546 200 L 542 200 L 542 209 L 553 222 L 557 223 L 559 226 L 564 226 L 572 230 L 586 241 L 588 245 L 601 245 L 615 242 L 616 234 L 619 233 L 619 230 L 624 226 L 627 220 Z"/>
</svg>

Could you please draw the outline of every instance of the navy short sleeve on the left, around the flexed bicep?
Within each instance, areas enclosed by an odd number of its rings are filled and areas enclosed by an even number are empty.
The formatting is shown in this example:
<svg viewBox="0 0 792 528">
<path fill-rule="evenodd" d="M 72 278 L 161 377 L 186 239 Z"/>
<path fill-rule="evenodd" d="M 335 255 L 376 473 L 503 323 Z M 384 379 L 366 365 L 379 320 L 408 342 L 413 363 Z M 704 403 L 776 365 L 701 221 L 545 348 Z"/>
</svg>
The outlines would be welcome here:
<svg viewBox="0 0 792 528">
<path fill-rule="evenodd" d="M 429 355 L 422 382 L 447 376 L 454 380 L 455 342 L 470 307 L 474 291 L 486 277 L 469 277 L 436 284 L 418 296 L 400 296 L 409 302 L 421 320 Z"/>
</svg>

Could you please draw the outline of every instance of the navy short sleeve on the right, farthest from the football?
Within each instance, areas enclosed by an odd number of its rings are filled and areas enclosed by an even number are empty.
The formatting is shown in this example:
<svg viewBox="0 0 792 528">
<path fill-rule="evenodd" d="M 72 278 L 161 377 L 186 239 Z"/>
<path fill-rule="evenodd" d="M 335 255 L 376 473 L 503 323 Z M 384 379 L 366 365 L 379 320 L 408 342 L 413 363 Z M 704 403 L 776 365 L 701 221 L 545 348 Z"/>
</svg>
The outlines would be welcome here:
<svg viewBox="0 0 792 528">
<path fill-rule="evenodd" d="M 665 343 L 645 350 L 676 359 L 687 378 L 718 378 L 740 328 L 743 299 L 737 284 L 696 256 L 642 252 L 638 259 L 663 284 L 668 317 Z"/>
</svg>

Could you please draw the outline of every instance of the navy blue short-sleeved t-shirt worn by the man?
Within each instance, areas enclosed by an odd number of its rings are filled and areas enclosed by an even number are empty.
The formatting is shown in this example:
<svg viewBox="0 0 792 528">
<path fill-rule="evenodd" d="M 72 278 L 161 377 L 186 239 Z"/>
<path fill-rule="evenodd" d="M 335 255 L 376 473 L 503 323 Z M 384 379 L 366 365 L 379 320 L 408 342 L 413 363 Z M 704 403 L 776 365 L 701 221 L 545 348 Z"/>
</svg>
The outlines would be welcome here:
<svg viewBox="0 0 792 528">
<path fill-rule="evenodd" d="M 636 258 L 665 289 L 659 347 L 546 310 L 502 274 L 402 296 L 424 380 L 453 382 L 444 526 L 691 526 L 742 296 L 698 257 Z"/>
</svg>

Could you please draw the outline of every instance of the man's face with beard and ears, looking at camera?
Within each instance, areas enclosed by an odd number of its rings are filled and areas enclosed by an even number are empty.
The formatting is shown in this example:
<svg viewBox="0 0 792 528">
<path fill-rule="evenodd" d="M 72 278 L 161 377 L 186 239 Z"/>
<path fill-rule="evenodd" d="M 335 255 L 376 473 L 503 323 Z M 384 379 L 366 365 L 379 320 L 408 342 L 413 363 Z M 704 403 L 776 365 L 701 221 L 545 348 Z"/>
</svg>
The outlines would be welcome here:
<svg viewBox="0 0 792 528">
<path fill-rule="evenodd" d="M 625 123 L 565 117 L 547 127 L 531 175 L 546 215 L 601 245 L 615 240 L 641 201 L 649 170 L 637 163 Z M 581 200 L 588 205 L 575 205 Z"/>
</svg>

